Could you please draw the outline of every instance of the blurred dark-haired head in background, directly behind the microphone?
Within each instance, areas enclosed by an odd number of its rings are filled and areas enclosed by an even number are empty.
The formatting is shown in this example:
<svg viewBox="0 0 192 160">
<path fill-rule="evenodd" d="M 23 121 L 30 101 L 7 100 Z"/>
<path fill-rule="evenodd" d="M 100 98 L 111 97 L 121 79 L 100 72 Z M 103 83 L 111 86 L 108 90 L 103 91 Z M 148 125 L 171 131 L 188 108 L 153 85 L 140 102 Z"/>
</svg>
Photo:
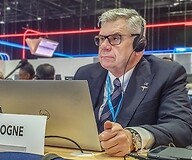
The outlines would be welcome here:
<svg viewBox="0 0 192 160">
<path fill-rule="evenodd" d="M 31 80 L 35 76 L 35 70 L 31 63 L 27 62 L 24 66 L 19 69 L 20 80 Z"/>
</svg>

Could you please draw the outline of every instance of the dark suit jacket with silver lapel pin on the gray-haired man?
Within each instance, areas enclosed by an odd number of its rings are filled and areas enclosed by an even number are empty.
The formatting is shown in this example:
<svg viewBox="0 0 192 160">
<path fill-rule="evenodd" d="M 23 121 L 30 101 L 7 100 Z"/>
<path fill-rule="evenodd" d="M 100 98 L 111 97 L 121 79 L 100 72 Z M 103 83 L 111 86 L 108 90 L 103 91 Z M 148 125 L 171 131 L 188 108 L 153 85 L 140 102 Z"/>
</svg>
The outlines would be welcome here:
<svg viewBox="0 0 192 160">
<path fill-rule="evenodd" d="M 87 80 L 98 129 L 98 110 L 103 102 L 107 70 L 100 63 L 80 67 L 74 78 Z M 192 144 L 192 108 L 186 71 L 177 62 L 144 56 L 135 67 L 126 88 L 117 122 L 123 127 L 140 126 L 155 137 L 155 146 Z M 143 89 L 145 87 L 145 89 Z"/>
</svg>

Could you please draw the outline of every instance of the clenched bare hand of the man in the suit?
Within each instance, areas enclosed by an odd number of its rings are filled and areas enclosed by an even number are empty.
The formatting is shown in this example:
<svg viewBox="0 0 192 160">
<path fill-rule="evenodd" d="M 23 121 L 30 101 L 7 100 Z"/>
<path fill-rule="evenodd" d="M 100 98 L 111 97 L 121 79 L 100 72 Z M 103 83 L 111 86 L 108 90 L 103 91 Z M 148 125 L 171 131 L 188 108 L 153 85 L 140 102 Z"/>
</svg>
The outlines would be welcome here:
<svg viewBox="0 0 192 160">
<path fill-rule="evenodd" d="M 111 156 L 124 156 L 133 150 L 132 135 L 118 123 L 106 121 L 99 135 L 102 148 Z"/>
</svg>

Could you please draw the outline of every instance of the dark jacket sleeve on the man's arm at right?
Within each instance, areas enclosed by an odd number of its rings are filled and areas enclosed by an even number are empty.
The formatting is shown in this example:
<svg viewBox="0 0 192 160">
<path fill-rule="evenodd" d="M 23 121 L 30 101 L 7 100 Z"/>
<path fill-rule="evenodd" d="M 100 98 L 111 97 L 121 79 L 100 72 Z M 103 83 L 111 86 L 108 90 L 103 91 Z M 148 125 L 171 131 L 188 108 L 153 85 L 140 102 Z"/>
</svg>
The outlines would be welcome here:
<svg viewBox="0 0 192 160">
<path fill-rule="evenodd" d="M 175 65 L 162 87 L 157 124 L 141 126 L 154 135 L 154 147 L 167 145 L 167 142 L 180 147 L 192 144 L 192 108 L 186 78 L 184 67 Z"/>
</svg>

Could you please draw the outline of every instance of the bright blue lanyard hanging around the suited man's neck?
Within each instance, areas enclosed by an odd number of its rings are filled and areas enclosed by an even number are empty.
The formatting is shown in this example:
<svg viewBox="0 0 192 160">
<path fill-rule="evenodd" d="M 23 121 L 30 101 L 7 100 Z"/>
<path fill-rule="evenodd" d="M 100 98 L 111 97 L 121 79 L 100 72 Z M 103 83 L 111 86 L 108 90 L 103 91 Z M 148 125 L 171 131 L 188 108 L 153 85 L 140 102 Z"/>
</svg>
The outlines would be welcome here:
<svg viewBox="0 0 192 160">
<path fill-rule="evenodd" d="M 111 101 L 111 85 L 110 84 L 111 83 L 110 83 L 109 75 L 107 75 L 107 84 L 106 84 L 107 85 L 107 103 L 108 103 L 109 110 L 110 110 L 112 118 L 113 118 L 113 122 L 116 122 L 117 115 L 119 114 L 119 110 L 120 110 L 120 107 L 122 104 L 123 96 L 121 97 L 119 104 L 117 106 L 117 110 L 115 112 L 114 106 L 113 106 L 112 101 Z"/>
</svg>

